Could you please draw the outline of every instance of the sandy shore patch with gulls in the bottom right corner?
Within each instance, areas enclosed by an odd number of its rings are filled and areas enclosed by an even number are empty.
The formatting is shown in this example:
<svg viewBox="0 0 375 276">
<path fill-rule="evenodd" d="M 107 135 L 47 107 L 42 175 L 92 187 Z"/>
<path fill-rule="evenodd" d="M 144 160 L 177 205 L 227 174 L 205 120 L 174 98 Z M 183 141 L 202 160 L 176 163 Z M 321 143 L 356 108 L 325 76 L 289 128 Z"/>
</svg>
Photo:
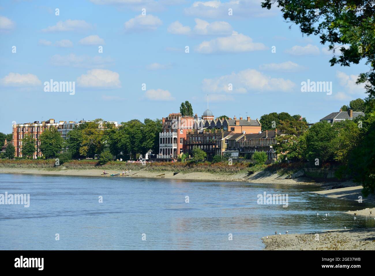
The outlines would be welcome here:
<svg viewBox="0 0 375 276">
<path fill-rule="evenodd" d="M 263 243 L 265 250 L 375 250 L 375 228 L 272 235 Z"/>
</svg>

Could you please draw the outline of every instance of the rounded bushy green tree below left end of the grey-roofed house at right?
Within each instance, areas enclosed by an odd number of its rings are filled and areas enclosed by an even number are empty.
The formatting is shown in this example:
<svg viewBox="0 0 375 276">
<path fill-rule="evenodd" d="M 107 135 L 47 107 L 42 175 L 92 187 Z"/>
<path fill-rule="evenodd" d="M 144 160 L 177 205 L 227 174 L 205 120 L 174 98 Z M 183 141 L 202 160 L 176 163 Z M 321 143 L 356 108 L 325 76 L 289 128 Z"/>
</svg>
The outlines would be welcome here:
<svg viewBox="0 0 375 276">
<path fill-rule="evenodd" d="M 306 156 L 310 162 L 319 159 L 319 163 L 332 161 L 337 149 L 334 140 L 336 130 L 327 121 L 314 124 L 306 135 Z"/>
</svg>

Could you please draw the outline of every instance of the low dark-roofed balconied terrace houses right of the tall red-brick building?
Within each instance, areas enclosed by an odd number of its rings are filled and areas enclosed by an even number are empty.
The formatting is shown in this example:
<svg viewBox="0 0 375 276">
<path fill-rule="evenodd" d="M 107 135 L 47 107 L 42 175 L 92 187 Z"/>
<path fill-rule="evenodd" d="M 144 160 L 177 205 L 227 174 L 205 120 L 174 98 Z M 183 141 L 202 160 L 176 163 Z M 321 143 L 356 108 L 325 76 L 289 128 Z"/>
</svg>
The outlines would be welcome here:
<svg viewBox="0 0 375 276">
<path fill-rule="evenodd" d="M 276 144 L 278 130 L 266 130 L 261 133 L 222 132 L 215 139 L 215 154 L 232 159 L 251 159 L 255 151 L 265 151 L 269 160 L 277 160 L 278 156 L 273 148 Z"/>
</svg>

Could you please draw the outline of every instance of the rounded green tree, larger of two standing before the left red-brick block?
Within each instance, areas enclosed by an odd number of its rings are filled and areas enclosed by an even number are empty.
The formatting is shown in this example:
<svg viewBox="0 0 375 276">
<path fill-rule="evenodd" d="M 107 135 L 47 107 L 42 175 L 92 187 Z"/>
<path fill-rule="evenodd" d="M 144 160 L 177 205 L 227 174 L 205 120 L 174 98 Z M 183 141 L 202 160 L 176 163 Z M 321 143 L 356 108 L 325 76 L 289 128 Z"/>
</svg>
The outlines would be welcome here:
<svg viewBox="0 0 375 276">
<path fill-rule="evenodd" d="M 54 127 L 40 135 L 40 150 L 46 158 L 55 158 L 62 151 L 64 139 Z"/>
</svg>

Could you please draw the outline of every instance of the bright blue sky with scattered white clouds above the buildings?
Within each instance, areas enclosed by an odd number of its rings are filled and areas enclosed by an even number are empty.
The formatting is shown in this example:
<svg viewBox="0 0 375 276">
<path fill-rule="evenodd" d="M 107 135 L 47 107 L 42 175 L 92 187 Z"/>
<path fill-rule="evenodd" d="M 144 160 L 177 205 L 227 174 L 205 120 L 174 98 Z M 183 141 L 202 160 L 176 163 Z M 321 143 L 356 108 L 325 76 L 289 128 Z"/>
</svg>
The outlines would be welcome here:
<svg viewBox="0 0 375 276">
<path fill-rule="evenodd" d="M 1 1 L 0 131 L 42 118 L 161 118 L 186 100 L 201 115 L 207 94 L 215 116 L 286 111 L 315 122 L 365 98 L 355 81 L 366 65 L 331 67 L 327 45 L 260 3 Z M 75 94 L 45 92 L 51 79 L 74 81 Z M 301 92 L 308 79 L 332 81 L 332 95 Z"/>
</svg>

